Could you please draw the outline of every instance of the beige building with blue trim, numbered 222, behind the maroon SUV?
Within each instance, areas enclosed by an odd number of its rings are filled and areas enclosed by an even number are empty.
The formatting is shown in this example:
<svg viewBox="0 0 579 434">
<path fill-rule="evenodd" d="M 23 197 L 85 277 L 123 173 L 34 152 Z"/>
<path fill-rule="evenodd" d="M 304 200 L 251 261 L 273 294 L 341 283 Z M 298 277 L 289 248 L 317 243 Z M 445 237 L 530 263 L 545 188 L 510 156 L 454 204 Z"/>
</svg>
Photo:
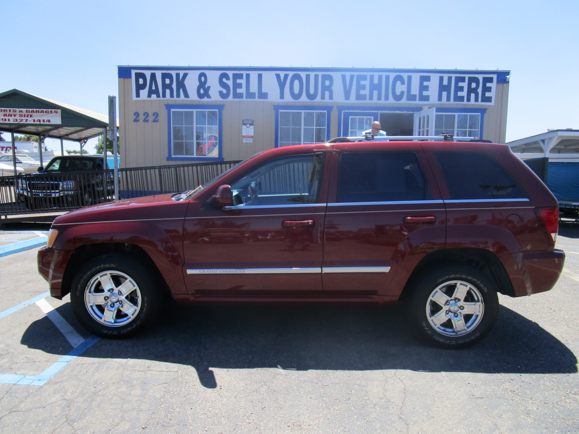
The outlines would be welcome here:
<svg viewBox="0 0 579 434">
<path fill-rule="evenodd" d="M 504 143 L 509 71 L 119 67 L 123 167 L 242 160 L 361 135 Z"/>
</svg>

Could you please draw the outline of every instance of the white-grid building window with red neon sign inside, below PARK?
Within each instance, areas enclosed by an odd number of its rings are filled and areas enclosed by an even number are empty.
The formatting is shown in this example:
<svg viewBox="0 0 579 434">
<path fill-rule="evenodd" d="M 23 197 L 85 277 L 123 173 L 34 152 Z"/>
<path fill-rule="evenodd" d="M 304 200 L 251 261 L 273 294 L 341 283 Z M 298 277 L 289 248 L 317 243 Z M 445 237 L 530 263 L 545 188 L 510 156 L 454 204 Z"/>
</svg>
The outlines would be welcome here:
<svg viewBox="0 0 579 434">
<path fill-rule="evenodd" d="M 217 110 L 171 110 L 173 157 L 218 157 Z"/>
</svg>

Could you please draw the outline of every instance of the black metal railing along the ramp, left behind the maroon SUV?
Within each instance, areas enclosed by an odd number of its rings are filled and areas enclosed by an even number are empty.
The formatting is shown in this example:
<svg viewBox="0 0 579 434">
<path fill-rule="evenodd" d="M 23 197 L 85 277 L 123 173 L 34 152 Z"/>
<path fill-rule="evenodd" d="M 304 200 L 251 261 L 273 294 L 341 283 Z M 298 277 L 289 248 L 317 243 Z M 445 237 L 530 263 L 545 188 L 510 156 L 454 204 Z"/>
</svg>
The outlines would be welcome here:
<svg viewBox="0 0 579 434">
<path fill-rule="evenodd" d="M 119 169 L 119 196 L 125 199 L 194 189 L 238 163 L 218 161 Z M 0 178 L 0 215 L 72 211 L 113 199 L 113 170 Z"/>
</svg>

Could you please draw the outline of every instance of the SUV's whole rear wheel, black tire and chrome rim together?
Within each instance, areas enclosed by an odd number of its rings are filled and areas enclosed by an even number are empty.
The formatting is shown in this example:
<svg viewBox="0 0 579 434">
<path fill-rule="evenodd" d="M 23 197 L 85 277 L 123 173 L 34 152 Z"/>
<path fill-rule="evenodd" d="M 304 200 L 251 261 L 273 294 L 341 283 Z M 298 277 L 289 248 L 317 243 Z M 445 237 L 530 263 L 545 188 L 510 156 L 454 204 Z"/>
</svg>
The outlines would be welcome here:
<svg viewBox="0 0 579 434">
<path fill-rule="evenodd" d="M 462 299 L 456 297 L 463 292 L 466 295 Z M 457 264 L 424 274 L 413 292 L 409 310 L 419 333 L 428 342 L 441 348 L 465 348 L 481 341 L 493 328 L 499 314 L 499 297 L 486 275 Z M 470 311 L 479 313 L 464 313 Z"/>
</svg>

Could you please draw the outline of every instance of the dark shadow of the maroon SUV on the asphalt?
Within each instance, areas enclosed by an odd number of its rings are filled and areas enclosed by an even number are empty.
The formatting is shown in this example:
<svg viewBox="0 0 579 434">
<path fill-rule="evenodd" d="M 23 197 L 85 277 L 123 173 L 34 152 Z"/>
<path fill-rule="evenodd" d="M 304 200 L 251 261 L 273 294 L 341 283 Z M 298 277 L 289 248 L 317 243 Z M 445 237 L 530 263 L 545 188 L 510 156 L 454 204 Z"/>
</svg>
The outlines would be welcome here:
<svg viewBox="0 0 579 434">
<path fill-rule="evenodd" d="M 70 317 L 70 303 L 57 308 Z M 32 323 L 21 344 L 54 354 L 46 326 Z M 577 358 L 538 323 L 501 306 L 494 329 L 465 350 L 431 347 L 409 330 L 402 306 L 179 306 L 129 340 L 102 340 L 83 357 L 145 359 L 195 367 L 204 387 L 211 367 L 291 370 L 408 369 L 422 372 L 576 373 Z M 73 324 L 76 328 L 78 323 Z M 43 331 L 44 330 L 44 331 Z M 79 330 L 83 335 L 86 331 Z M 45 334 L 45 336 L 42 336 Z"/>
</svg>

